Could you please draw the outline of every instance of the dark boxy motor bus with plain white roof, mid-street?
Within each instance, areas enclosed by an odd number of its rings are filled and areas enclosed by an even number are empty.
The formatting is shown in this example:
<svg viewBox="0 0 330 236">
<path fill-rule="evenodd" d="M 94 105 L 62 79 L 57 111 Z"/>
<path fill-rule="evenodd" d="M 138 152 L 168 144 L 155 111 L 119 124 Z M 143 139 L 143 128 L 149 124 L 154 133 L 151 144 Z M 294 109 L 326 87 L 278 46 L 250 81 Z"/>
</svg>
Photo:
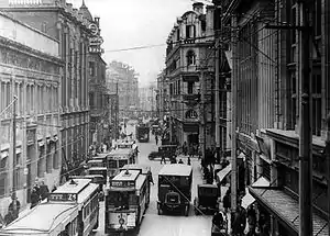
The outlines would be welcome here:
<svg viewBox="0 0 330 236">
<path fill-rule="evenodd" d="M 188 216 L 191 183 L 191 166 L 184 164 L 165 165 L 158 173 L 158 215 L 165 212 L 180 212 Z"/>
</svg>

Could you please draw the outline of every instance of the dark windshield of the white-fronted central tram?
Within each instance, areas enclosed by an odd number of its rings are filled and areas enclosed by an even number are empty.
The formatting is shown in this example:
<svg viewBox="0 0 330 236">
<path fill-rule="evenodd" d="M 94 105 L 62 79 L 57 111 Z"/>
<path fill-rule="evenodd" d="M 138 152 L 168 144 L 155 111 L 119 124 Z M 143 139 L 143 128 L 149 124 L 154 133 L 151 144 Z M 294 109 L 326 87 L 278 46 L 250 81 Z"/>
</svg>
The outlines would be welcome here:
<svg viewBox="0 0 330 236">
<path fill-rule="evenodd" d="M 138 196 L 135 195 L 135 191 L 111 191 L 108 203 L 113 204 L 114 207 L 128 210 L 130 205 L 138 204 Z"/>
</svg>

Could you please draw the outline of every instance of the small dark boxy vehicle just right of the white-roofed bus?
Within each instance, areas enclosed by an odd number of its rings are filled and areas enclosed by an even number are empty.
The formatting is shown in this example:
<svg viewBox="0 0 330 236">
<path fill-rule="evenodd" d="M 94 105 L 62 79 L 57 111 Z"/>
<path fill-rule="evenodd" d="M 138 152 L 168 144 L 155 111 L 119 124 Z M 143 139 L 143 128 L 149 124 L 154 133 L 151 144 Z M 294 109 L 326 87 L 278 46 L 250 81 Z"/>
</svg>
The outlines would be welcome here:
<svg viewBox="0 0 330 236">
<path fill-rule="evenodd" d="M 198 184 L 197 196 L 194 200 L 195 214 L 215 214 L 219 211 L 219 188 L 216 184 Z"/>
</svg>

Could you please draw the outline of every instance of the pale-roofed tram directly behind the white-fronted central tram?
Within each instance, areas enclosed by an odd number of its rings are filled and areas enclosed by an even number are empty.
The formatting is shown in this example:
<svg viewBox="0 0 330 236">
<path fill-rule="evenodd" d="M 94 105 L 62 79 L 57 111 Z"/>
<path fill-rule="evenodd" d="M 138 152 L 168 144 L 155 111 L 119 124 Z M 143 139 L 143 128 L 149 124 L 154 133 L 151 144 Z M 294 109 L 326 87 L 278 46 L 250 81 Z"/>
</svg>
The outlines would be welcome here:
<svg viewBox="0 0 330 236">
<path fill-rule="evenodd" d="M 124 165 L 136 162 L 138 155 L 132 148 L 117 148 L 107 156 L 108 177 L 112 179 Z"/>
</svg>

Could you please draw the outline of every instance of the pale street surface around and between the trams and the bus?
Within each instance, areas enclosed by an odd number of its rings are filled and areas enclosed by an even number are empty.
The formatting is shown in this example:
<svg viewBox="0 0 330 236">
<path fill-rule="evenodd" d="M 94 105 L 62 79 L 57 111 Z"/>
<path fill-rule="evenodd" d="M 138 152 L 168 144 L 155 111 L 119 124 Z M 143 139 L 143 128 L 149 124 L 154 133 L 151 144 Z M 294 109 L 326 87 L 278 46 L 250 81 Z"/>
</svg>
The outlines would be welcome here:
<svg viewBox="0 0 330 236">
<path fill-rule="evenodd" d="M 135 127 L 128 125 L 127 134 L 135 133 Z M 134 137 L 134 136 L 133 136 Z M 160 144 L 158 144 L 160 145 Z M 151 204 L 144 215 L 139 236 L 209 236 L 211 235 L 211 216 L 196 216 L 190 207 L 189 216 L 178 215 L 157 215 L 157 175 L 162 168 L 161 160 L 148 160 L 147 155 L 156 150 L 155 137 L 151 135 L 148 143 L 139 144 L 139 162 L 147 164 L 152 168 L 154 186 L 151 186 Z M 184 162 L 187 160 L 184 159 Z M 169 162 L 169 161 L 168 161 Z M 200 165 L 197 159 L 193 159 L 194 179 L 193 179 L 193 200 L 197 193 L 197 184 L 201 183 Z M 105 203 L 100 204 L 100 225 L 96 236 L 105 235 Z"/>
</svg>

